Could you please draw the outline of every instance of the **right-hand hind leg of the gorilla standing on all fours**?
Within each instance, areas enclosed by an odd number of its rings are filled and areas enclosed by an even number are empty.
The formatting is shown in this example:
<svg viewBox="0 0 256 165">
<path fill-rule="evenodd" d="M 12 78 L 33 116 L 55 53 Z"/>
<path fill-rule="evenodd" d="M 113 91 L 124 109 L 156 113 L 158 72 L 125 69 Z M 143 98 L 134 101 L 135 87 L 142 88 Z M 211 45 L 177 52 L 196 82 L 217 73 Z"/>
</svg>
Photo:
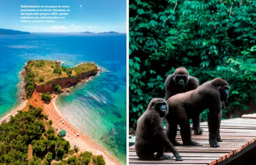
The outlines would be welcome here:
<svg viewBox="0 0 256 165">
<path fill-rule="evenodd" d="M 203 144 L 192 141 L 189 120 L 180 124 L 180 135 L 185 146 L 202 146 Z"/>
</svg>

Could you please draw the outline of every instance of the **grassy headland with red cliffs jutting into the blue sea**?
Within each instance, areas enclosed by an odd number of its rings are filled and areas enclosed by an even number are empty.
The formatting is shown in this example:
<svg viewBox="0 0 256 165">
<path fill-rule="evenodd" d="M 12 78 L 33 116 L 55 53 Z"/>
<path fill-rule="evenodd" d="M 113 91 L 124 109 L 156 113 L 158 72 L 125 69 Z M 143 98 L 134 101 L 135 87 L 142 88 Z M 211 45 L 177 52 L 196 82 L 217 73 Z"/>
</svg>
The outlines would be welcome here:
<svg viewBox="0 0 256 165">
<path fill-rule="evenodd" d="M 26 84 L 23 98 L 31 98 L 34 90 L 39 93 L 68 92 L 65 88 L 83 82 L 98 71 L 101 70 L 94 63 L 67 68 L 58 61 L 30 60 L 22 72 Z"/>
</svg>

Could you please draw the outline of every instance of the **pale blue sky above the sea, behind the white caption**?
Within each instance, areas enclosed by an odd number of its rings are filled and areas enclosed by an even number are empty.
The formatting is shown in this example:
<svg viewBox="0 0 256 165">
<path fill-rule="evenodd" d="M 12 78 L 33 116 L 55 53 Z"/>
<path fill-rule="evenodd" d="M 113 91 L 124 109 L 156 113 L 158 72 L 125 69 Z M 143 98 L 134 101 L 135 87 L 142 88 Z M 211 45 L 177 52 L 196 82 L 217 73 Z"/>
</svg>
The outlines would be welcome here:
<svg viewBox="0 0 256 165">
<path fill-rule="evenodd" d="M 21 9 L 28 9 L 21 5 L 70 6 L 70 12 L 56 22 L 27 23 L 20 22 L 21 16 L 35 15 L 21 15 Z M 126 33 L 126 0 L 0 0 L 0 28 L 28 32 Z"/>
</svg>

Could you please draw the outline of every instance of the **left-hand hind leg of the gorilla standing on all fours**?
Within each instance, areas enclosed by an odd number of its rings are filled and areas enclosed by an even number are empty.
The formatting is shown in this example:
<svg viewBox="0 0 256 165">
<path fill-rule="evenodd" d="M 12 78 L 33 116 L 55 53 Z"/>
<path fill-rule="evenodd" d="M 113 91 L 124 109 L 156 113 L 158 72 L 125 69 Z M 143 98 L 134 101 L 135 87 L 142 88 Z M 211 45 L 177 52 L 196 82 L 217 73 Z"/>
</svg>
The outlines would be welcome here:
<svg viewBox="0 0 256 165">
<path fill-rule="evenodd" d="M 176 141 L 176 135 L 177 135 L 177 128 L 178 125 L 175 122 L 168 122 L 166 127 L 166 134 L 173 146 L 182 146 L 182 143 L 179 143 Z M 167 150 L 170 150 L 170 148 L 167 148 Z"/>
</svg>

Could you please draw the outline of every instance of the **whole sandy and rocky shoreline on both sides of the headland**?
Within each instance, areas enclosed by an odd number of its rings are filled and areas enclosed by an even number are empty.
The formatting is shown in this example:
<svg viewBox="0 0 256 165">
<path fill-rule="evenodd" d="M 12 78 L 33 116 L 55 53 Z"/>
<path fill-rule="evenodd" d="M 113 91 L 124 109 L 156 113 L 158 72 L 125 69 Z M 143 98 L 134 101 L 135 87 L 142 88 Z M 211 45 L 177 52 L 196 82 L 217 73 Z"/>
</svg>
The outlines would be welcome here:
<svg viewBox="0 0 256 165">
<path fill-rule="evenodd" d="M 99 72 L 102 72 L 102 70 L 99 69 Z M 98 76 L 99 76 L 99 72 L 97 73 Z M 19 75 L 21 75 L 21 77 L 23 78 L 22 83 L 24 83 L 24 70 L 21 73 L 19 73 Z M 93 77 L 90 76 L 89 78 L 83 79 L 81 82 L 77 83 L 77 85 L 86 83 L 92 79 L 93 79 Z M 22 86 L 23 86 L 23 84 L 22 84 Z M 70 88 L 73 88 L 73 87 L 74 86 L 70 86 L 65 89 L 69 90 Z M 64 93 L 66 93 L 66 92 L 64 92 Z M 58 128 L 58 131 L 56 131 L 56 134 L 58 134 L 58 132 L 60 131 L 60 127 L 65 129 L 67 134 L 63 138 L 70 142 L 71 149 L 74 148 L 74 145 L 77 145 L 77 147 L 80 149 L 80 151 L 92 152 L 92 154 L 94 156 L 102 155 L 104 157 L 106 165 L 121 165 L 120 162 L 118 162 L 117 159 L 115 159 L 113 156 L 111 156 L 102 146 L 100 146 L 99 144 L 94 142 L 92 139 L 90 139 L 85 134 L 78 131 L 78 129 L 75 128 L 71 123 L 67 122 L 67 120 L 62 116 L 62 114 L 60 113 L 60 111 L 58 110 L 58 108 L 55 105 L 55 101 L 58 98 L 58 95 L 51 94 L 53 96 L 52 100 L 50 101 L 49 104 L 45 104 L 41 100 L 42 93 L 38 93 L 38 92 L 34 91 L 32 94 L 32 97 L 30 99 L 24 99 L 24 97 L 23 97 L 24 94 L 25 94 L 25 90 L 22 88 L 21 95 L 20 95 L 22 102 L 20 104 L 18 104 L 17 107 L 13 108 L 9 113 L 6 113 L 6 115 L 4 115 L 0 119 L 0 124 L 3 121 L 8 122 L 9 117 L 15 116 L 18 113 L 18 110 L 27 111 L 28 105 L 30 105 L 30 104 L 32 104 L 34 107 L 42 107 L 43 108 L 42 113 L 48 115 L 48 121 L 52 120 L 52 122 L 53 122 L 52 127 Z M 62 121 L 64 121 L 65 123 L 62 124 L 60 119 L 62 119 Z M 79 136 L 77 136 L 77 133 L 79 133 Z"/>
</svg>

